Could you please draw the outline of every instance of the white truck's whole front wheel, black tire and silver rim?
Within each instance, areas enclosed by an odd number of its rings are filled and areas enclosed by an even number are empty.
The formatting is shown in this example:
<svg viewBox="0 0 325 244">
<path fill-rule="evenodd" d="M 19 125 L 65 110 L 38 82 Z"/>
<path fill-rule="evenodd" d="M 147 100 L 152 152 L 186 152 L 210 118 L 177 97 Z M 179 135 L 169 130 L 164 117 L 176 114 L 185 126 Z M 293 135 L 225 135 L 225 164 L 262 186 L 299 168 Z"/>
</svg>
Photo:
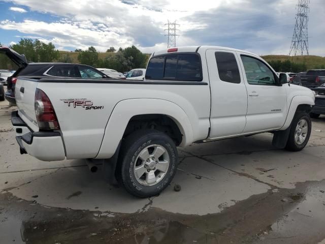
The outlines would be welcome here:
<svg viewBox="0 0 325 244">
<path fill-rule="evenodd" d="M 290 151 L 302 150 L 310 137 L 311 133 L 311 119 L 306 112 L 297 112 L 290 129 L 286 149 Z"/>
</svg>

